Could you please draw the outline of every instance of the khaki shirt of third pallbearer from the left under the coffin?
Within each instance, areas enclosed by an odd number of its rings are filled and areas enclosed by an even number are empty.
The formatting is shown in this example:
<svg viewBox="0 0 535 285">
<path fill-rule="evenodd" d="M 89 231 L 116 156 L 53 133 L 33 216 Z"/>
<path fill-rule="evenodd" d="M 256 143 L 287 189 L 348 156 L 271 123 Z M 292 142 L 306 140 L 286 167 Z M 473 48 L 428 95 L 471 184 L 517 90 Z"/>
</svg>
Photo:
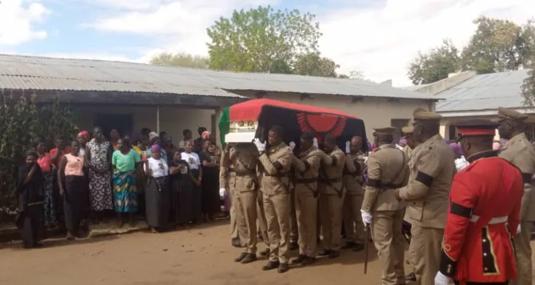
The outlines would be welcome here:
<svg viewBox="0 0 535 285">
<path fill-rule="evenodd" d="M 317 176 L 324 154 L 322 150 L 312 146 L 308 150 L 299 152 L 297 157 L 293 157 L 295 193 L 316 194 Z"/>
</svg>

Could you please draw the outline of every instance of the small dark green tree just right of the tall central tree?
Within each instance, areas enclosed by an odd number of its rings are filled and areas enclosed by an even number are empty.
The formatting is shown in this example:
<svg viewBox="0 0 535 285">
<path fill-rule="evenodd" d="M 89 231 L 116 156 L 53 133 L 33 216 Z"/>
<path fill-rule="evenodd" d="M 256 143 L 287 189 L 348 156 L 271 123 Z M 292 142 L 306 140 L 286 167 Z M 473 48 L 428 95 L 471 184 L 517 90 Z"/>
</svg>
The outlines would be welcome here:
<svg viewBox="0 0 535 285">
<path fill-rule="evenodd" d="M 294 73 L 302 76 L 337 77 L 339 65 L 330 58 L 322 57 L 319 52 L 297 55 Z"/>
</svg>

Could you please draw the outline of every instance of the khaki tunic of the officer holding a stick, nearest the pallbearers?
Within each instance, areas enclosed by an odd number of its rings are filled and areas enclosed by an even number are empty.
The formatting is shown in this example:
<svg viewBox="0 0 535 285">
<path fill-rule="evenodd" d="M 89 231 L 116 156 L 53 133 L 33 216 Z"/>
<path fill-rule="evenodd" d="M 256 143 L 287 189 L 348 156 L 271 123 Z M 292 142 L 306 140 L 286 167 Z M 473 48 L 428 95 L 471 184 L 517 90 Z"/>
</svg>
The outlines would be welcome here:
<svg viewBox="0 0 535 285">
<path fill-rule="evenodd" d="M 395 211 L 405 204 L 394 196 L 394 189 L 409 182 L 409 157 L 394 145 L 381 145 L 368 157 L 368 182 L 362 210 Z"/>
</svg>

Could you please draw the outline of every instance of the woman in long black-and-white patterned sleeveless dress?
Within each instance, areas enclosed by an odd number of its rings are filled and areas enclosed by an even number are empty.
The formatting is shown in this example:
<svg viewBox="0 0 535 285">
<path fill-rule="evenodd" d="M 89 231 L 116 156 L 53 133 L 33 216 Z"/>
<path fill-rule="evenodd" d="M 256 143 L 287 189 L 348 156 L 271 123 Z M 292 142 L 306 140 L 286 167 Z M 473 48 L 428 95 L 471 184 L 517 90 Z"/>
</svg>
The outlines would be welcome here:
<svg viewBox="0 0 535 285">
<path fill-rule="evenodd" d="M 89 169 L 89 200 L 93 222 L 98 224 L 104 211 L 113 209 L 111 192 L 111 156 L 110 142 L 104 140 L 100 127 L 93 129 L 93 140 L 86 145 L 85 162 Z"/>
</svg>

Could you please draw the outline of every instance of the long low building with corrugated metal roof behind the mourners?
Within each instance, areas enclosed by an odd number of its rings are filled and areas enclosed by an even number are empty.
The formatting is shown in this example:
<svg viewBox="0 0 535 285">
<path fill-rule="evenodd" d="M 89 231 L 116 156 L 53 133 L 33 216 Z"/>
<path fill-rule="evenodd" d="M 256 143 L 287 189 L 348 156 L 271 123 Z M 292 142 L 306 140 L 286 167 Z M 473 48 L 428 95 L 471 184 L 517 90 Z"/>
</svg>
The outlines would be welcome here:
<svg viewBox="0 0 535 285">
<path fill-rule="evenodd" d="M 142 63 L 0 55 L 0 90 L 36 93 L 39 102 L 59 95 L 80 112 L 78 128 L 101 125 L 123 132 L 215 131 L 220 111 L 249 98 L 343 110 L 372 128 L 407 125 L 415 108 L 434 110 L 432 95 L 388 85 L 339 78 L 234 73 Z"/>
</svg>

